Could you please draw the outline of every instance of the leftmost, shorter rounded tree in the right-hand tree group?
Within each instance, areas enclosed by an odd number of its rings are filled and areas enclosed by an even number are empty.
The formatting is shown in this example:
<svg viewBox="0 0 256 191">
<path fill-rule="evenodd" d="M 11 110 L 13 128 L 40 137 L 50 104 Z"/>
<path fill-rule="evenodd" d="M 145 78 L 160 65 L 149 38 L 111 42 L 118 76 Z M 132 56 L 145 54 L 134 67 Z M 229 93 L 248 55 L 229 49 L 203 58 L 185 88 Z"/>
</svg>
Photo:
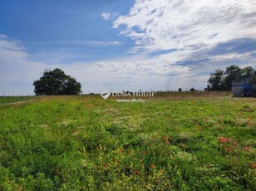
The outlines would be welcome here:
<svg viewBox="0 0 256 191">
<path fill-rule="evenodd" d="M 211 73 L 208 87 L 210 91 L 224 91 L 224 71 L 217 69 L 214 73 Z"/>
</svg>

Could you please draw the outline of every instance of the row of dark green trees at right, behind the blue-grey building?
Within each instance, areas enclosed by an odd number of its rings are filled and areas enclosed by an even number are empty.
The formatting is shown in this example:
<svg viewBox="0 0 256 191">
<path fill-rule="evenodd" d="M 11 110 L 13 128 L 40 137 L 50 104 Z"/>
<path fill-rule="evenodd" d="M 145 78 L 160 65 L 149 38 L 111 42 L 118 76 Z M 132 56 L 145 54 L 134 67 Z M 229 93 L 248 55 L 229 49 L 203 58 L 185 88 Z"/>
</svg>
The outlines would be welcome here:
<svg viewBox="0 0 256 191">
<path fill-rule="evenodd" d="M 231 91 L 232 81 L 242 81 L 254 74 L 256 74 L 256 71 L 252 66 L 240 68 L 232 65 L 226 67 L 225 71 L 217 69 L 210 74 L 206 89 L 208 91 Z"/>
</svg>

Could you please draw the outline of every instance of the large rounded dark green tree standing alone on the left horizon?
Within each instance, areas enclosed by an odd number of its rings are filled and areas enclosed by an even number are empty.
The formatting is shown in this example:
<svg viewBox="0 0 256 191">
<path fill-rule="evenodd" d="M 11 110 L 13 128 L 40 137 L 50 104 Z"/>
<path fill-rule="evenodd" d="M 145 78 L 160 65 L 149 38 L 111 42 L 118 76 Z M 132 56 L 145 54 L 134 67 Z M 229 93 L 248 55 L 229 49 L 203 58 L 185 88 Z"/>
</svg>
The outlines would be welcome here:
<svg viewBox="0 0 256 191">
<path fill-rule="evenodd" d="M 75 78 L 67 76 L 61 69 L 45 70 L 43 76 L 33 82 L 36 95 L 78 95 L 81 84 Z"/>
</svg>

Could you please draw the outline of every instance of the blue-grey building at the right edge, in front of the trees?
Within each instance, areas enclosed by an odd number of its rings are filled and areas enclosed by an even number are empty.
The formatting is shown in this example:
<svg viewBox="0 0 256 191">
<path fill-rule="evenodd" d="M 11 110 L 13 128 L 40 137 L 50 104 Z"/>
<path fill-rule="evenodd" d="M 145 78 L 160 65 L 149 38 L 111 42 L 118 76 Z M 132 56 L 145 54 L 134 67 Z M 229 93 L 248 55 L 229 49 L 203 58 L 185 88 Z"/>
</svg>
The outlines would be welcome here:
<svg viewBox="0 0 256 191">
<path fill-rule="evenodd" d="M 254 96 L 256 97 L 256 75 L 245 78 L 241 81 L 232 82 L 232 93 L 234 96 Z"/>
</svg>

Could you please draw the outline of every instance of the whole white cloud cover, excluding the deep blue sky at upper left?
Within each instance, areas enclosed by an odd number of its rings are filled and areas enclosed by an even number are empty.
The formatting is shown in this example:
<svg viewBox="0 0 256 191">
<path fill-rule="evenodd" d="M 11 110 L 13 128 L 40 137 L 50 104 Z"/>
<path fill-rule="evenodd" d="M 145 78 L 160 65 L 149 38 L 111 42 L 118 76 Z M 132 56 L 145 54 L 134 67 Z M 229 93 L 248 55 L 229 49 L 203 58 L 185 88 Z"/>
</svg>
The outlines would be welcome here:
<svg viewBox="0 0 256 191">
<path fill-rule="evenodd" d="M 21 42 L 0 34 L 0 94 L 32 94 L 32 81 L 56 67 L 81 82 L 84 93 L 203 89 L 217 68 L 256 68 L 254 7 L 253 0 L 136 0 L 127 15 L 103 13 L 104 19 L 118 17 L 113 28 L 135 42 L 131 48 L 130 39 L 128 46 L 117 37 L 106 42 Z M 57 49 L 48 51 L 53 44 Z M 24 45 L 47 48 L 28 53 Z M 130 56 L 118 55 L 126 46 Z M 111 56 L 90 60 L 91 54 L 104 52 Z"/>
</svg>

